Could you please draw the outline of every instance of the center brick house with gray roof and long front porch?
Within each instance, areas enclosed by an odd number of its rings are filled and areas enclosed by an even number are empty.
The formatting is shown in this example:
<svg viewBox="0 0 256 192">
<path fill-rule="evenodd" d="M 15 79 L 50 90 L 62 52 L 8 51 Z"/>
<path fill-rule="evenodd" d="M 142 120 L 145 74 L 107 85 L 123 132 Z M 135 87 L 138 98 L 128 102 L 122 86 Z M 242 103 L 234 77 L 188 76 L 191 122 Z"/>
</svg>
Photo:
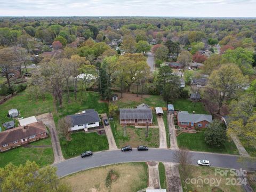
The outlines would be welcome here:
<svg viewBox="0 0 256 192">
<path fill-rule="evenodd" d="M 150 108 L 120 109 L 119 119 L 121 125 L 146 125 L 152 124 L 153 114 Z"/>
</svg>

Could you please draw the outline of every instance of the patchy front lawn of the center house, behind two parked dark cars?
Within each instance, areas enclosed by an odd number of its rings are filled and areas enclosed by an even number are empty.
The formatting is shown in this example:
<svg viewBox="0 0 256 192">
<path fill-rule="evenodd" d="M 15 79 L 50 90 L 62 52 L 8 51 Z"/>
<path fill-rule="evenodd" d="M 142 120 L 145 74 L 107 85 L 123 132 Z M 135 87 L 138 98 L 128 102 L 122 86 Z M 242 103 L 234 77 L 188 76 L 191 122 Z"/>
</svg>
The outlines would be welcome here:
<svg viewBox="0 0 256 192">
<path fill-rule="evenodd" d="M 114 121 L 110 121 L 110 125 L 118 148 L 126 145 L 131 145 L 132 147 L 138 147 L 139 145 L 159 147 L 158 128 L 149 128 L 148 137 L 146 138 L 146 127 L 126 126 L 126 137 L 124 137 L 124 127 L 119 124 L 118 117 L 114 117 Z"/>
</svg>

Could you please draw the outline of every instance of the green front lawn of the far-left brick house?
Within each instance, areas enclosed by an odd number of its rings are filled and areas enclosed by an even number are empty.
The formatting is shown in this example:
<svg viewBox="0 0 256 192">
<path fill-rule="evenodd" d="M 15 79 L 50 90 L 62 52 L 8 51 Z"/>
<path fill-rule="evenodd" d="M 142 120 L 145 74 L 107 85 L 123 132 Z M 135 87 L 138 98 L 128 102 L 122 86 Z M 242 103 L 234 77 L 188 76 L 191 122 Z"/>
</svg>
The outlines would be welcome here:
<svg viewBox="0 0 256 192">
<path fill-rule="evenodd" d="M 51 145 L 51 138 L 30 143 L 34 146 Z M 52 148 L 25 148 L 18 147 L 0 154 L 0 167 L 8 163 L 14 165 L 25 164 L 26 161 L 35 161 L 39 166 L 52 164 L 54 161 Z"/>
</svg>

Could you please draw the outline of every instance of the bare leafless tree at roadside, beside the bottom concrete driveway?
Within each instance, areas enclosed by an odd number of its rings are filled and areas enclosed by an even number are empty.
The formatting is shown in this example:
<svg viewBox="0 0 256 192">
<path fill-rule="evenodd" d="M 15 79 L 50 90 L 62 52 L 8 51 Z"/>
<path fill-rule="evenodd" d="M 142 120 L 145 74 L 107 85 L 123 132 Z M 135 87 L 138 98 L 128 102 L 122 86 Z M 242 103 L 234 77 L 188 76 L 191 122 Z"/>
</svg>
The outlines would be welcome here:
<svg viewBox="0 0 256 192">
<path fill-rule="evenodd" d="M 192 155 L 186 148 L 180 148 L 179 150 L 175 151 L 174 159 L 180 164 L 180 173 L 182 174 L 183 178 L 187 179 L 189 173 L 191 172 L 191 161 Z"/>
</svg>

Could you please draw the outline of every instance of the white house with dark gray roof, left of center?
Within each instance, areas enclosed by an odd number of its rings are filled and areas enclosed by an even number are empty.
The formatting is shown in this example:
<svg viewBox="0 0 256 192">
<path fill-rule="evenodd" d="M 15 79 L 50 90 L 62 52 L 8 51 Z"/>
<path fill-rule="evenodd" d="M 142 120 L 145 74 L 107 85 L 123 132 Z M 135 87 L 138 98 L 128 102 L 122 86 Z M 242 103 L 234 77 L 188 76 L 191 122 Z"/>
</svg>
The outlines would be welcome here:
<svg viewBox="0 0 256 192">
<path fill-rule="evenodd" d="M 88 128 L 98 127 L 100 125 L 99 114 L 94 109 L 87 109 L 76 115 L 68 115 L 66 116 L 66 121 L 70 123 L 69 131 L 81 129 L 87 131 Z"/>
</svg>

